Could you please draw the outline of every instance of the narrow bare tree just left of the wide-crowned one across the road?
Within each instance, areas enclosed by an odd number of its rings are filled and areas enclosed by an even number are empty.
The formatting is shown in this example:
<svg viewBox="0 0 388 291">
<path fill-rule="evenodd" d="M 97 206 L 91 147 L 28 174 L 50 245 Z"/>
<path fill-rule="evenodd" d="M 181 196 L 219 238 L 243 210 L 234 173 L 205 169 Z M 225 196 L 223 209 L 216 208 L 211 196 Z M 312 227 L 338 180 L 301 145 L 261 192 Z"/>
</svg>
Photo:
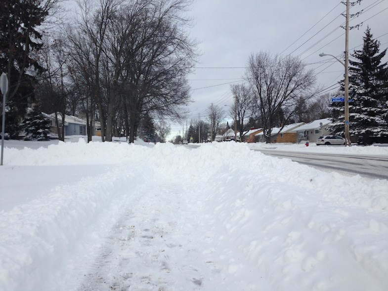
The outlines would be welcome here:
<svg viewBox="0 0 388 291">
<path fill-rule="evenodd" d="M 245 128 L 244 121 L 250 117 L 252 103 L 253 103 L 253 93 L 252 89 L 249 86 L 244 84 L 233 84 L 230 86 L 234 98 L 234 106 L 232 108 L 232 114 L 235 115 L 237 121 L 237 130 L 240 132 L 240 139 L 244 135 L 244 131 L 248 128 Z"/>
</svg>

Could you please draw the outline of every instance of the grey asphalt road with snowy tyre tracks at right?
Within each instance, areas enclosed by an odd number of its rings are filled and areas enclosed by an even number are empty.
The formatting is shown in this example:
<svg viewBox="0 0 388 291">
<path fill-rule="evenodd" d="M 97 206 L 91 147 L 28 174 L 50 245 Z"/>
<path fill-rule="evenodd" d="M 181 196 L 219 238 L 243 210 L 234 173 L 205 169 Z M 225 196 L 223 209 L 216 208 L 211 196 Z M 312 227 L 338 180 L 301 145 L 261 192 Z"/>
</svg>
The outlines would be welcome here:
<svg viewBox="0 0 388 291">
<path fill-rule="evenodd" d="M 388 157 L 298 153 L 278 150 L 255 150 L 277 158 L 288 158 L 316 168 L 374 179 L 388 179 Z"/>
</svg>

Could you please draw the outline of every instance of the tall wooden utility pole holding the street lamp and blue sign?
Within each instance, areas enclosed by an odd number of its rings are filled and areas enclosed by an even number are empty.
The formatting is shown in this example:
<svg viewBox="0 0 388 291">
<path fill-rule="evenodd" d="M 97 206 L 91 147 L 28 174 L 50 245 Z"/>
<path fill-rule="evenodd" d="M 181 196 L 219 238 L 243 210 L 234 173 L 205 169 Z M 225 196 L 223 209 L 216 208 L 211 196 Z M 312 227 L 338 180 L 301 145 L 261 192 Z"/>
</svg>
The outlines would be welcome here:
<svg viewBox="0 0 388 291">
<path fill-rule="evenodd" d="M 349 133 L 349 0 L 346 0 L 345 25 L 345 145 L 350 146 Z"/>
</svg>

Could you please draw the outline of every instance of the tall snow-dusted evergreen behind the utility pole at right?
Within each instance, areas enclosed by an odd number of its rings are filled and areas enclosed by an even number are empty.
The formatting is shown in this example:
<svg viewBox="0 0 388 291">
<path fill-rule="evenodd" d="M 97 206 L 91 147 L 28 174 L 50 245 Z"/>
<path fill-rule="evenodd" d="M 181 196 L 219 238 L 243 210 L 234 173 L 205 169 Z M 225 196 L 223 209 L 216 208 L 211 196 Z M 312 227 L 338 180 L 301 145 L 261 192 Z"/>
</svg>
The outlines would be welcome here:
<svg viewBox="0 0 388 291">
<path fill-rule="evenodd" d="M 380 52 L 380 42 L 373 40 L 368 27 L 361 50 L 355 50 L 349 64 L 350 134 L 378 135 L 388 133 L 387 62 L 381 64 L 387 49 Z M 342 85 L 344 83 L 342 82 Z M 333 126 L 344 131 L 344 104 L 332 106 Z"/>
</svg>

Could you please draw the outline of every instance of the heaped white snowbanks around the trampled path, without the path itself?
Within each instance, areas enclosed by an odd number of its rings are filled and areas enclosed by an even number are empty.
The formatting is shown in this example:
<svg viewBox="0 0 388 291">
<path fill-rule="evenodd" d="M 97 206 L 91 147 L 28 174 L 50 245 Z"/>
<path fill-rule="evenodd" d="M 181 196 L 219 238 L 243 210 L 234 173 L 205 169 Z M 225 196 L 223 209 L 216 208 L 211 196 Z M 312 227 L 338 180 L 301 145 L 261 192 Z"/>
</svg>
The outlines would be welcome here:
<svg viewBox="0 0 388 291">
<path fill-rule="evenodd" d="M 217 290 L 265 290 L 244 285 L 259 277 L 269 290 L 387 289 L 388 180 L 327 173 L 244 144 L 147 145 L 80 140 L 6 148 L 2 180 L 17 179 L 15 166 L 30 166 L 36 176 L 43 166 L 58 165 L 75 172 L 94 165 L 104 173 L 53 189 L 33 185 L 34 199 L 0 211 L 0 290 L 78 290 L 84 274 L 76 262 L 85 261 L 84 271 L 91 265 L 107 229 L 146 195 L 137 185 L 147 189 L 150 180 L 149 187 L 177 187 L 193 207 L 202 205 L 197 219 L 205 229 L 193 234 L 187 224 L 180 231 L 187 241 L 213 238 L 209 253 L 223 262 Z M 176 196 L 163 195 L 175 205 Z M 215 290 L 211 281 L 218 277 L 207 276 L 202 289 Z"/>
</svg>

